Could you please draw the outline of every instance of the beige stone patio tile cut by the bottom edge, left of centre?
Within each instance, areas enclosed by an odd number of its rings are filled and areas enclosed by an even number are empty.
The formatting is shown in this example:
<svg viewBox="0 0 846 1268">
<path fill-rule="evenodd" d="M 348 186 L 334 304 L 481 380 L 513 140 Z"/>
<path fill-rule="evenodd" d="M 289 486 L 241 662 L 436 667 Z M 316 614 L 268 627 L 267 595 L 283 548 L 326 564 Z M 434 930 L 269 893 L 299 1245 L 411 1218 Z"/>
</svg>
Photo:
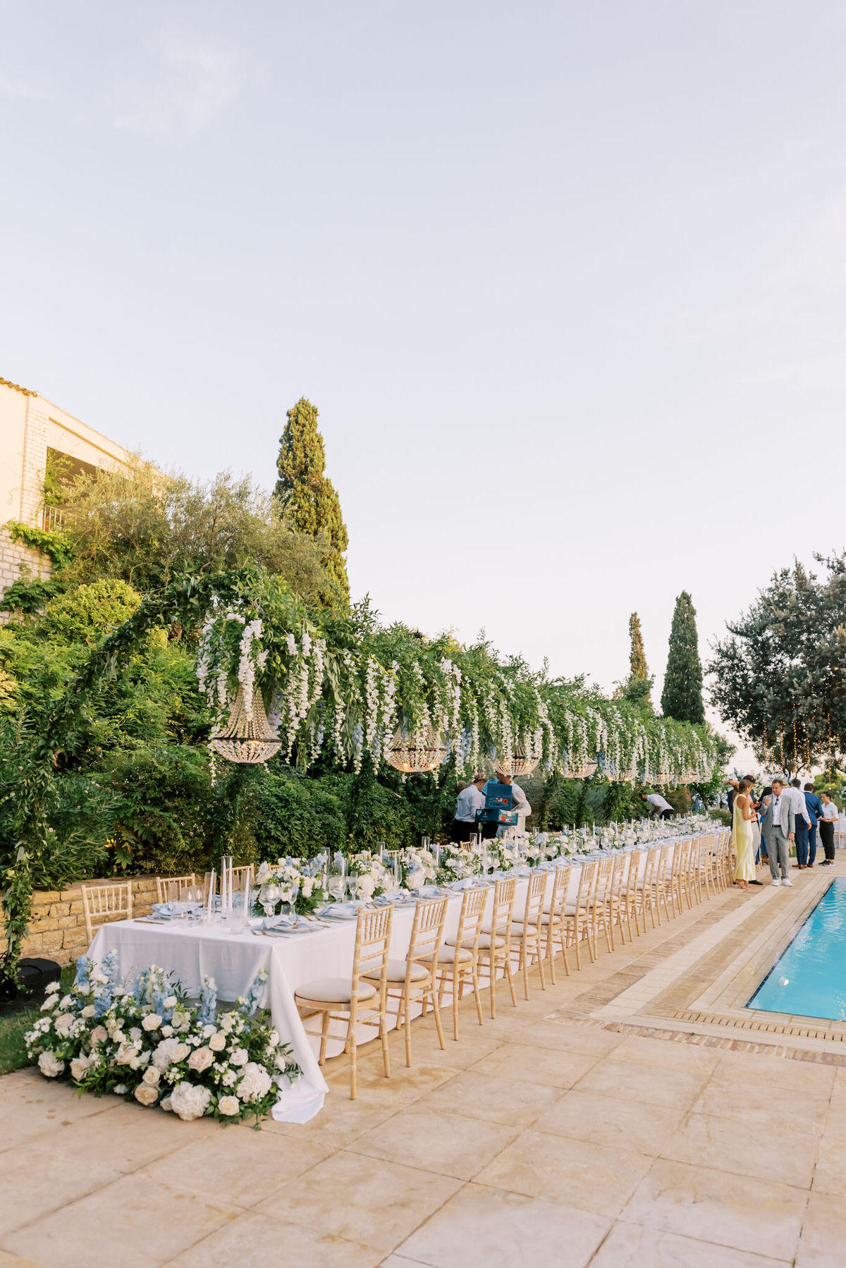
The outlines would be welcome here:
<svg viewBox="0 0 846 1268">
<path fill-rule="evenodd" d="M 249 1211 L 170 1260 L 172 1268 L 375 1268 L 382 1252 Z"/>
</svg>

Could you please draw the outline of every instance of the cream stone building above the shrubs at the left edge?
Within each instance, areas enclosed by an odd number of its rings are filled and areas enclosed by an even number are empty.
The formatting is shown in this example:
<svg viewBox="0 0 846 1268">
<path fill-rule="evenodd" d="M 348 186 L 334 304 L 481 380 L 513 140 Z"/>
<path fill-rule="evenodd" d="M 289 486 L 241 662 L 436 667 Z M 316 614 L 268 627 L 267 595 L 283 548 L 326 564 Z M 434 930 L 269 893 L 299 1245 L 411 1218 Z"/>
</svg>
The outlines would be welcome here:
<svg viewBox="0 0 846 1268">
<path fill-rule="evenodd" d="M 122 445 L 80 422 L 38 392 L 0 378 L 0 593 L 19 577 L 48 577 L 46 554 L 13 541 L 9 520 L 61 529 L 61 507 L 44 506 L 49 450 L 70 459 L 67 474 L 119 469 L 129 460 Z"/>
</svg>

